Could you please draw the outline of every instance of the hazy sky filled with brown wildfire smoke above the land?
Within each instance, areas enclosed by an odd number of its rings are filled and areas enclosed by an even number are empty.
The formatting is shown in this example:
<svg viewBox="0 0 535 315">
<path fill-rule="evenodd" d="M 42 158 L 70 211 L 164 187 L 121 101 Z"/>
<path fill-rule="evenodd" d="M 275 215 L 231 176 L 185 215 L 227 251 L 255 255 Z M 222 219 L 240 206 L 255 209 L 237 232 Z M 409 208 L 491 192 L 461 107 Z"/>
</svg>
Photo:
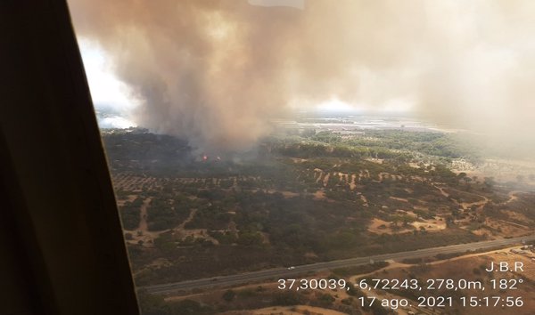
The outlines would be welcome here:
<svg viewBox="0 0 535 315">
<path fill-rule="evenodd" d="M 318 106 L 410 111 L 534 143 L 533 1 L 70 0 L 70 8 L 86 67 L 95 64 L 87 70 L 95 102 L 199 146 L 247 145 L 270 119 Z"/>
</svg>

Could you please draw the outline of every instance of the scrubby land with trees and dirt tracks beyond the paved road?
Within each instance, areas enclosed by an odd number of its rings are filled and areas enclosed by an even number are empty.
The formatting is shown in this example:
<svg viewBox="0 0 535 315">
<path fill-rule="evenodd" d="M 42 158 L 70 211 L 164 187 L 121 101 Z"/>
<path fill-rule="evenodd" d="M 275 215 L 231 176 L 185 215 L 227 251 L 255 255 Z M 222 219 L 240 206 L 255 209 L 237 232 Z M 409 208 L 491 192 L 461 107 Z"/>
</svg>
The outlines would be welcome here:
<svg viewBox="0 0 535 315">
<path fill-rule="evenodd" d="M 137 286 L 510 238 L 535 225 L 531 174 L 469 176 L 459 160 L 486 160 L 449 133 L 278 134 L 213 155 L 143 130 L 103 141 Z M 253 304 L 262 303 L 224 309 Z"/>
</svg>

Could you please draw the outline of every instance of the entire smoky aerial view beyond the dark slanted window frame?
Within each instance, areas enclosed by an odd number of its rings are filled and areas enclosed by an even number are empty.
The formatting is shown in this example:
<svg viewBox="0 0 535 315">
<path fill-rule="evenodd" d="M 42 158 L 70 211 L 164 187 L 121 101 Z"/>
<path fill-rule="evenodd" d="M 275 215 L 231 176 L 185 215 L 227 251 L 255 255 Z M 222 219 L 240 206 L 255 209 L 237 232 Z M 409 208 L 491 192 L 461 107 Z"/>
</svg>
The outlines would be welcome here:
<svg viewBox="0 0 535 315">
<path fill-rule="evenodd" d="M 69 2 L 144 314 L 533 314 L 535 2 Z"/>
</svg>

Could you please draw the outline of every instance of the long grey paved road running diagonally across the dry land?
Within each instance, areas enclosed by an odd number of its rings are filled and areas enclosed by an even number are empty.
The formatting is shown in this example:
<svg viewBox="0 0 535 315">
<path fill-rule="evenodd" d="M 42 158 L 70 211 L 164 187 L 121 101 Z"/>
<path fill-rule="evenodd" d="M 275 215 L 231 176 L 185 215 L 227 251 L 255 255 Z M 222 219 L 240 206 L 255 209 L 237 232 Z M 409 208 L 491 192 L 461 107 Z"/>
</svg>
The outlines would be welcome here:
<svg viewBox="0 0 535 315">
<path fill-rule="evenodd" d="M 363 265 L 370 263 L 371 260 L 374 262 L 381 262 L 386 260 L 403 260 L 407 258 L 419 258 L 426 256 L 433 256 L 436 254 L 451 254 L 451 253 L 462 253 L 468 250 L 478 250 L 485 249 L 495 246 L 506 246 L 519 244 L 522 241 L 531 241 L 535 240 L 535 236 L 523 237 L 523 238 L 506 238 L 506 239 L 497 239 L 497 240 L 488 240 L 483 242 L 468 243 L 468 244 L 459 244 L 451 246 L 441 246 L 441 247 L 432 247 L 425 249 L 418 249 L 410 252 L 399 252 L 392 254 L 377 254 L 374 256 L 367 257 L 358 257 L 343 259 L 333 262 L 325 263 L 311 263 L 306 265 L 295 266 L 294 269 L 288 270 L 287 268 L 275 268 L 268 269 L 264 271 L 253 271 L 235 274 L 231 276 L 220 276 L 217 278 L 209 279 L 195 279 L 182 282 L 168 283 L 163 285 L 156 285 L 150 287 L 144 287 L 147 292 L 152 294 L 169 294 L 175 291 L 181 290 L 191 290 L 194 288 L 203 288 L 203 287 L 229 287 L 237 284 L 243 284 L 253 281 L 261 281 L 268 279 L 279 279 L 289 276 L 300 275 L 307 273 L 309 271 L 325 271 L 334 268 L 342 267 L 351 267 Z"/>
</svg>

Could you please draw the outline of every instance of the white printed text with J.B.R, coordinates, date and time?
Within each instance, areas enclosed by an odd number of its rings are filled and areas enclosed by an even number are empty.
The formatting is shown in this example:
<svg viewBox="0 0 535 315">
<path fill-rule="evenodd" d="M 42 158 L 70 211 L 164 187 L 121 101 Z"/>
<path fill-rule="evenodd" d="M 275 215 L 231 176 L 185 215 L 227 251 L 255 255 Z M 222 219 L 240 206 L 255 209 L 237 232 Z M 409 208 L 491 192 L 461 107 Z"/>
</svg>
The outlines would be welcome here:
<svg viewBox="0 0 535 315">
<path fill-rule="evenodd" d="M 523 263 L 498 262 L 490 263 L 487 272 L 500 272 L 521 274 L 524 271 Z M 357 298 L 362 307 L 372 307 L 375 303 L 383 307 L 396 310 L 399 307 L 418 308 L 449 308 L 460 307 L 499 307 L 521 308 L 523 296 L 514 295 L 519 287 L 523 286 L 524 280 L 520 277 L 509 279 L 359 279 L 356 283 L 350 283 L 345 279 L 278 279 L 280 290 L 346 290 L 359 289 L 362 292 Z M 414 298 L 381 298 L 374 296 L 375 290 L 383 290 L 395 294 L 395 291 L 410 290 Z M 451 294 L 456 291 L 480 292 L 481 294 L 459 296 Z M 485 291 L 494 294 L 485 295 Z M 496 291 L 499 295 L 496 295 Z M 440 295 L 432 295 L 438 292 Z"/>
</svg>

